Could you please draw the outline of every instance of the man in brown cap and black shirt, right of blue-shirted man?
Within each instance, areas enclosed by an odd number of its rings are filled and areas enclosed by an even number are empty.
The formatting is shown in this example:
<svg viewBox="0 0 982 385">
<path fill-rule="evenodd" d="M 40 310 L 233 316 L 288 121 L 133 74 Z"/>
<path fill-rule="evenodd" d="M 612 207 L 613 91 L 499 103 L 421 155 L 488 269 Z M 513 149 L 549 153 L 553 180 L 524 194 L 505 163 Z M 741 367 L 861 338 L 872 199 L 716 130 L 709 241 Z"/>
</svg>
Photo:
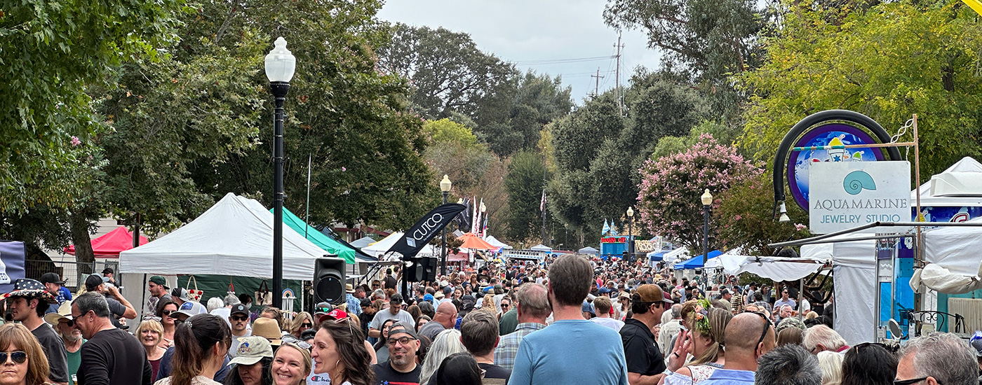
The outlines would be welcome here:
<svg viewBox="0 0 982 385">
<path fill-rule="evenodd" d="M 651 327 L 661 322 L 665 308 L 672 306 L 657 285 L 644 284 L 630 299 L 633 314 L 621 327 L 621 342 L 627 359 L 627 382 L 631 385 L 655 384 L 665 371 L 665 357 L 658 350 Z"/>
</svg>

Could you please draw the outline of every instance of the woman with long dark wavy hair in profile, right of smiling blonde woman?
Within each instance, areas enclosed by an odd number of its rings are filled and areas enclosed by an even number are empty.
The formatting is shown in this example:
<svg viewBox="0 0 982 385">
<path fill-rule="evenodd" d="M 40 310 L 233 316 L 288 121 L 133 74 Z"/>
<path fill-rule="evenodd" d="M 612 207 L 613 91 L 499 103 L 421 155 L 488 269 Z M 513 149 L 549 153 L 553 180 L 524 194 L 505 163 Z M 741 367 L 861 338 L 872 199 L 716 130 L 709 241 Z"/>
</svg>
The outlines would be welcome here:
<svg viewBox="0 0 982 385">
<path fill-rule="evenodd" d="M 360 343 L 363 340 L 361 331 L 351 323 L 321 323 L 310 355 L 313 372 L 327 373 L 331 385 L 370 385 L 375 370 L 371 368 L 368 350 Z"/>
</svg>

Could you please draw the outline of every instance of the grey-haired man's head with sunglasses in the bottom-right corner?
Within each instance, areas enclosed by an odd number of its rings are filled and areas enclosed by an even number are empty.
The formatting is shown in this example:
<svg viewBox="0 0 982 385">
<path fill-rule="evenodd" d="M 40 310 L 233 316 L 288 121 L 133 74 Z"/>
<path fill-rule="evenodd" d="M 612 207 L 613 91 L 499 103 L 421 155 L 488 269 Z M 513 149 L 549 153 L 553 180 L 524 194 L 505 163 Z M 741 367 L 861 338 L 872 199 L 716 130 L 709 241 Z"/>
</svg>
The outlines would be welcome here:
<svg viewBox="0 0 982 385">
<path fill-rule="evenodd" d="M 900 350 L 896 385 L 975 385 L 978 364 L 968 344 L 951 333 L 916 337 Z"/>
</svg>

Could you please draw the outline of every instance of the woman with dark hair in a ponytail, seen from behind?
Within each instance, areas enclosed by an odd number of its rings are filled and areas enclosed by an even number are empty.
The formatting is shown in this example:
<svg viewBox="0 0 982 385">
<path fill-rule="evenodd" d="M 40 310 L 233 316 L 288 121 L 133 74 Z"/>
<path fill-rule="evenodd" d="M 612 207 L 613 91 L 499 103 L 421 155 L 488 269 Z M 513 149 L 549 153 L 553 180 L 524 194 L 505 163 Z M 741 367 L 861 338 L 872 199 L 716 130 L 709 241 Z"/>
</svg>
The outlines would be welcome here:
<svg viewBox="0 0 982 385">
<path fill-rule="evenodd" d="M 218 315 L 197 314 L 174 330 L 174 369 L 154 385 L 221 385 L 212 378 L 232 344 L 229 324 Z"/>
</svg>

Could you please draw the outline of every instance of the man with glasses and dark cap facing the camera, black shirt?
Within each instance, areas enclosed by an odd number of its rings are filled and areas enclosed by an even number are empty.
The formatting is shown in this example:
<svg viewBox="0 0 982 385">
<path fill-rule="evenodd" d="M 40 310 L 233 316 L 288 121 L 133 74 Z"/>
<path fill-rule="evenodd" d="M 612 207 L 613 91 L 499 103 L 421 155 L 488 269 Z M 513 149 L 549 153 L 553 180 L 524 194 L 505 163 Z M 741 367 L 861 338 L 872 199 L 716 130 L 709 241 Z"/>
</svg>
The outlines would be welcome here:
<svg viewBox="0 0 982 385">
<path fill-rule="evenodd" d="M 403 322 L 396 322 L 389 329 L 389 361 L 372 365 L 375 384 L 419 385 L 422 367 L 416 364 L 419 337 L 415 330 Z"/>
</svg>

